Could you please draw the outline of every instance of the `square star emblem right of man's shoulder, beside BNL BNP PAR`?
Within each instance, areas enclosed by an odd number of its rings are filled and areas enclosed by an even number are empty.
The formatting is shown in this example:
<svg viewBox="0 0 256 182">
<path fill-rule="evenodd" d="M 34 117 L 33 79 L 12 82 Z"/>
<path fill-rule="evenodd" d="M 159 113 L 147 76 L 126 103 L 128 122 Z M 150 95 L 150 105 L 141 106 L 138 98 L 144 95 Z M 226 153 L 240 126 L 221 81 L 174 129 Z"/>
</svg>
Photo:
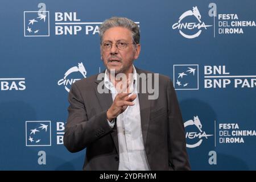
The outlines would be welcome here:
<svg viewBox="0 0 256 182">
<path fill-rule="evenodd" d="M 175 90 L 198 90 L 198 64 L 175 64 L 173 81 Z"/>
</svg>

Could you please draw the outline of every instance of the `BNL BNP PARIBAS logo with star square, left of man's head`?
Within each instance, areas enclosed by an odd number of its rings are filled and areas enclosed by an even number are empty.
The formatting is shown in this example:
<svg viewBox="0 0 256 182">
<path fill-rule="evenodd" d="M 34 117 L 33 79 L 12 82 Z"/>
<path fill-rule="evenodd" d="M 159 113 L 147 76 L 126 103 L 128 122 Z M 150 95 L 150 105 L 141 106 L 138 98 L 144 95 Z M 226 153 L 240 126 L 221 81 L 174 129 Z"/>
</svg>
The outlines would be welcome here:
<svg viewBox="0 0 256 182">
<path fill-rule="evenodd" d="M 24 11 L 24 36 L 49 36 L 49 11 L 46 11 L 46 4 L 39 3 L 38 11 Z M 53 15 L 54 14 L 54 15 Z M 79 18 L 77 12 L 53 12 L 51 22 L 55 25 L 55 35 L 97 35 L 102 22 L 84 22 Z M 135 22 L 139 24 L 139 22 Z M 53 32 L 53 31 L 52 31 Z"/>
</svg>

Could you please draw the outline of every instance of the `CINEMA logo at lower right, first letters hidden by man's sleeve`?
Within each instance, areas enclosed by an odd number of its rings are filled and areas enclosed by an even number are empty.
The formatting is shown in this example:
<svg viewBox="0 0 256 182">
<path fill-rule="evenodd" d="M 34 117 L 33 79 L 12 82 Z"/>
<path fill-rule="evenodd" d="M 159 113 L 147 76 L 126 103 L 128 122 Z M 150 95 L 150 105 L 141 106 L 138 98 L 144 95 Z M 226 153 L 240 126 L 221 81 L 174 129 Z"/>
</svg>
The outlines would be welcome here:
<svg viewBox="0 0 256 182">
<path fill-rule="evenodd" d="M 186 146 L 188 148 L 195 148 L 200 146 L 203 140 L 208 139 L 208 137 L 213 136 L 212 134 L 207 134 L 203 130 L 203 125 L 198 116 L 194 116 L 193 119 L 189 119 L 184 123 L 186 129 Z"/>
</svg>

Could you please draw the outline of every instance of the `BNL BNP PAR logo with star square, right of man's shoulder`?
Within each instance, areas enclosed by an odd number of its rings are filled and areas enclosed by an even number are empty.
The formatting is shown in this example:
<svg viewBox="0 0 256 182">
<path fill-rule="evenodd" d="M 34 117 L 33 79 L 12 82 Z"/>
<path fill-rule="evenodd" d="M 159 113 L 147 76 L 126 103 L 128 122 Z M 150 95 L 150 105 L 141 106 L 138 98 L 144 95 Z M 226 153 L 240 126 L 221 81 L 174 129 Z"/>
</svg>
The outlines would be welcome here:
<svg viewBox="0 0 256 182">
<path fill-rule="evenodd" d="M 204 89 L 255 89 L 256 75 L 232 75 L 226 65 L 204 65 Z M 251 67 L 253 68 L 253 67 Z M 251 72 L 254 70 L 252 69 Z M 249 72 L 246 70 L 245 72 Z M 175 64 L 174 65 L 174 88 L 175 90 L 199 90 L 199 65 L 198 64 Z"/>
</svg>

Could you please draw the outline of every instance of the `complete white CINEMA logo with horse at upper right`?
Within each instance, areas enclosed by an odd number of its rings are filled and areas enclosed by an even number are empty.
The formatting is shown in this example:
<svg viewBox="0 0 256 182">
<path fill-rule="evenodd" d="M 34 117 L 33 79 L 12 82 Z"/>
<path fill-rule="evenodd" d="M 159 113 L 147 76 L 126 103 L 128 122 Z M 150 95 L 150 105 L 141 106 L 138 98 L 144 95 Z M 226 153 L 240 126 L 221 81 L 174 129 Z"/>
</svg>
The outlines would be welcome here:
<svg viewBox="0 0 256 182">
<path fill-rule="evenodd" d="M 185 22 L 185 18 L 187 18 L 188 16 L 195 16 L 195 18 L 197 19 L 198 23 L 195 22 Z M 184 22 L 184 23 L 183 23 Z M 205 29 L 207 30 L 207 27 L 211 27 L 212 25 L 206 25 L 204 22 L 201 21 L 201 14 L 199 12 L 199 10 L 197 9 L 197 6 L 193 7 L 193 10 L 188 10 L 185 11 L 185 13 L 183 13 L 180 17 L 179 17 L 179 21 L 177 23 L 174 23 L 172 25 L 172 29 L 179 29 L 179 32 L 182 36 L 184 36 L 184 38 L 187 39 L 193 39 L 193 38 L 197 38 L 202 30 L 201 29 Z M 189 30 L 191 32 L 193 32 L 193 30 L 198 30 L 195 34 L 192 35 L 188 35 L 186 30 Z M 185 32 L 186 31 L 186 32 Z"/>
</svg>

